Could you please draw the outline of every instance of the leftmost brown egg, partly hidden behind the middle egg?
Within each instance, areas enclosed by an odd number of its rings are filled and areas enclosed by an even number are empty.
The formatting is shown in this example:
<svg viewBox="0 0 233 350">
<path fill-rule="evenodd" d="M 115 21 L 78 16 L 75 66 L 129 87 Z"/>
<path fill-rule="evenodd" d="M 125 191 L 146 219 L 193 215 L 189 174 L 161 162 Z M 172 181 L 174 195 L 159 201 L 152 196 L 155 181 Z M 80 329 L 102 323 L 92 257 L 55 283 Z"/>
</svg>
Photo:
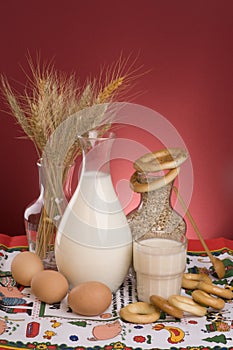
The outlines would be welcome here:
<svg viewBox="0 0 233 350">
<path fill-rule="evenodd" d="M 32 277 L 43 269 L 39 256 L 28 251 L 17 254 L 11 263 L 12 277 L 23 286 L 30 286 Z"/>
</svg>

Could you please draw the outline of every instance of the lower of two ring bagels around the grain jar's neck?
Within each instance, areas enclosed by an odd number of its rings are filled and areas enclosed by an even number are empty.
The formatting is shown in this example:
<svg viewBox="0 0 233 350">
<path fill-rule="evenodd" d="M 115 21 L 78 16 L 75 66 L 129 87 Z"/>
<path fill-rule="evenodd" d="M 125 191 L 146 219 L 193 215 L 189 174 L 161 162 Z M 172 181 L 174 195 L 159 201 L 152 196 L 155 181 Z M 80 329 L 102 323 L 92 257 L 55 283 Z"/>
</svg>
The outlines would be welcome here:
<svg viewBox="0 0 233 350">
<path fill-rule="evenodd" d="M 139 193 L 154 191 L 172 182 L 176 178 L 176 176 L 179 174 L 179 172 L 180 172 L 179 167 L 174 168 L 174 169 L 171 169 L 164 176 L 159 176 L 151 182 L 140 183 L 138 181 L 138 173 L 137 171 L 135 171 L 130 178 L 130 187 L 134 192 L 139 192 Z"/>
</svg>

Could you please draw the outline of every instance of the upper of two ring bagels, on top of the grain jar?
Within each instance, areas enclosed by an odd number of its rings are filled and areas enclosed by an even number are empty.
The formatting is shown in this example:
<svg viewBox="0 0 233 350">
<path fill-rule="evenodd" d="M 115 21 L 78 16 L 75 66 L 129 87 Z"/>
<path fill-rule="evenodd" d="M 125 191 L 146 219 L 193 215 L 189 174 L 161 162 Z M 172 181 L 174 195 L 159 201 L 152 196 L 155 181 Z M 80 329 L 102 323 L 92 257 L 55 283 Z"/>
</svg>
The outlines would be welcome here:
<svg viewBox="0 0 233 350">
<path fill-rule="evenodd" d="M 157 172 L 179 167 L 188 158 L 188 153 L 181 148 L 165 148 L 146 153 L 134 162 L 134 169 L 139 172 Z"/>
</svg>

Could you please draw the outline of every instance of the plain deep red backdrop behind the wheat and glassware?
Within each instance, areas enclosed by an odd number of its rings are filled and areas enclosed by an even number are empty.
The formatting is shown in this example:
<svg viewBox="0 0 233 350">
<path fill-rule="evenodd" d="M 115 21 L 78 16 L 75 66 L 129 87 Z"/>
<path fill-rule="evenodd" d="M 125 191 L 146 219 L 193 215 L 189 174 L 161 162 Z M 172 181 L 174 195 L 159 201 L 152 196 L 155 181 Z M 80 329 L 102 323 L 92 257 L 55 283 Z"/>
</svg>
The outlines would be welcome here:
<svg viewBox="0 0 233 350">
<path fill-rule="evenodd" d="M 204 237 L 232 238 L 232 18 L 231 0 L 1 1 L 0 73 L 24 83 L 28 51 L 81 80 L 121 52 L 138 55 L 151 71 L 133 102 L 162 114 L 186 143 L 190 210 Z M 38 195 L 37 155 L 18 139 L 15 120 L 3 111 L 0 118 L 0 232 L 24 234 L 23 211 Z M 187 234 L 196 237 L 190 225 Z"/>
</svg>

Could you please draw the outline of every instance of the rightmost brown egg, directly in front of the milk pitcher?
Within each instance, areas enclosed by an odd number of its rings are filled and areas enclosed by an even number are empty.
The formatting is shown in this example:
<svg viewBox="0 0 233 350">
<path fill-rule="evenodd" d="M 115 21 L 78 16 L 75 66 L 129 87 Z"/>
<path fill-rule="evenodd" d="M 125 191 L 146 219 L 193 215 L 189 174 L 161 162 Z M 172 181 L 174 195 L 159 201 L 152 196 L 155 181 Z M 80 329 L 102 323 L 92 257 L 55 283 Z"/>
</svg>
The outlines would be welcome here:
<svg viewBox="0 0 233 350">
<path fill-rule="evenodd" d="M 74 287 L 68 295 L 68 305 L 79 315 L 97 316 L 112 301 L 111 290 L 101 282 L 84 282 Z"/>
</svg>

